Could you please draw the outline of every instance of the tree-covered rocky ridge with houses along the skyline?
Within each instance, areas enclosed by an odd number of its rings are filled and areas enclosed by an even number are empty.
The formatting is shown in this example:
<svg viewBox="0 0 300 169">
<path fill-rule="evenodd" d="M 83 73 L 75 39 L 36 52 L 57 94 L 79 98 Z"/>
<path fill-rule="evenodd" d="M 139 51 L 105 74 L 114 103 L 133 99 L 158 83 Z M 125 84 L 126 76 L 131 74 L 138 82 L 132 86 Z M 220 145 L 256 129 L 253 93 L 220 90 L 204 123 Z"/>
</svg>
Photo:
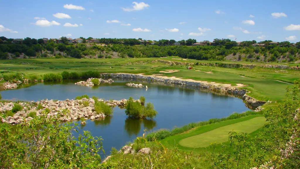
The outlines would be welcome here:
<svg viewBox="0 0 300 169">
<path fill-rule="evenodd" d="M 85 39 L 80 37 L 83 42 Z M 288 41 L 277 44 L 269 44 L 271 41 L 243 41 L 237 43 L 230 39 L 214 39 L 213 42 L 206 41 L 203 46 L 190 46 L 196 40 L 188 39 L 179 41 L 181 45 L 174 45 L 175 40 L 161 39 L 155 41 L 154 45 L 150 42 L 140 42 L 141 39 L 116 39 L 101 38 L 98 43 L 69 43 L 66 37 L 62 37 L 61 43 L 56 43 L 55 39 L 44 43 L 43 39 L 25 38 L 22 43 L 11 43 L 13 39 L 0 41 L 1 59 L 26 58 L 26 57 L 167 57 L 179 56 L 182 58 L 196 60 L 226 60 L 231 56 L 232 60 L 247 61 L 277 61 L 289 62 L 298 60 L 300 43 L 291 44 Z M 142 44 L 142 45 L 140 45 Z M 254 44 L 254 45 L 253 45 Z M 264 44 L 263 47 L 257 44 Z M 24 56 L 25 54 L 25 56 Z M 22 57 L 20 57 L 22 56 Z"/>
</svg>

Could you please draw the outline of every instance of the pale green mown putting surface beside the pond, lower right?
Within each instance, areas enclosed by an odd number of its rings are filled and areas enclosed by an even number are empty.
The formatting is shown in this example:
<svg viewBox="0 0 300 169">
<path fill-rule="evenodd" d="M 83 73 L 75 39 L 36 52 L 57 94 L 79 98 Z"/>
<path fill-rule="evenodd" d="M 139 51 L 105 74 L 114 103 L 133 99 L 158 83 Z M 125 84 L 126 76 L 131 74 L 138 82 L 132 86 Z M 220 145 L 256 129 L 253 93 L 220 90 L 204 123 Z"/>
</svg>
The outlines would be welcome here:
<svg viewBox="0 0 300 169">
<path fill-rule="evenodd" d="M 179 145 L 192 148 L 207 147 L 212 142 L 226 142 L 228 140 L 228 133 L 232 131 L 232 129 L 239 133 L 252 133 L 261 128 L 265 123 L 265 117 L 255 117 L 250 120 L 226 125 L 202 134 L 187 137 L 180 140 Z"/>
</svg>

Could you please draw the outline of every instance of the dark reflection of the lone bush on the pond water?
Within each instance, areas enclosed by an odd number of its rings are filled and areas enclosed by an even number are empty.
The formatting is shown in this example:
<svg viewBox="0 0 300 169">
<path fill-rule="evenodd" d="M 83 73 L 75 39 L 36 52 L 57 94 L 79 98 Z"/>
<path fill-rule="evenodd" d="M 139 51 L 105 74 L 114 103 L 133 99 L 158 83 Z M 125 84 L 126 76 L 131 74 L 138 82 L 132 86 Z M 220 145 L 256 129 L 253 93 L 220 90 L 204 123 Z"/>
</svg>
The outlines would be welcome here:
<svg viewBox="0 0 300 169">
<path fill-rule="evenodd" d="M 152 130 L 156 127 L 156 121 L 152 119 L 126 118 L 124 129 L 129 137 L 133 135 L 137 136 L 140 133 L 142 123 L 147 130 Z"/>
</svg>

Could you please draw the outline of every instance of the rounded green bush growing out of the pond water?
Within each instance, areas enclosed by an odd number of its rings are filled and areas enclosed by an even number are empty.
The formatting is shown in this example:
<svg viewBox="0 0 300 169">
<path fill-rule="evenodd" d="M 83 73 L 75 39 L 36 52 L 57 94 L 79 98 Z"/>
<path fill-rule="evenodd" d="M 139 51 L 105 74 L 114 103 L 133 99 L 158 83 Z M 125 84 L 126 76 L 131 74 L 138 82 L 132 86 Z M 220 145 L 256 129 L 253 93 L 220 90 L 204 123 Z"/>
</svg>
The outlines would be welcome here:
<svg viewBox="0 0 300 169">
<path fill-rule="evenodd" d="M 145 100 L 143 101 L 145 102 Z M 127 100 L 125 108 L 125 114 L 131 118 L 154 118 L 157 115 L 157 111 L 154 109 L 152 103 L 147 103 L 147 105 L 144 106 L 134 101 L 132 97 L 129 97 Z"/>
</svg>

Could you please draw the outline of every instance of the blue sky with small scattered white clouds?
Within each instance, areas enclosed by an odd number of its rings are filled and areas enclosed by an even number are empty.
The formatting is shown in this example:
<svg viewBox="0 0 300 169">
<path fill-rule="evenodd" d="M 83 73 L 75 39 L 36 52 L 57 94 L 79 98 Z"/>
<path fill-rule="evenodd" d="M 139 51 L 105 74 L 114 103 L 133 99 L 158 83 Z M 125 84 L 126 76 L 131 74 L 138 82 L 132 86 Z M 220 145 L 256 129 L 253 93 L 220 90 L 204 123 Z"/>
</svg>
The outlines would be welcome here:
<svg viewBox="0 0 300 169">
<path fill-rule="evenodd" d="M 300 0 L 0 0 L 7 38 L 300 41 Z"/>
</svg>

